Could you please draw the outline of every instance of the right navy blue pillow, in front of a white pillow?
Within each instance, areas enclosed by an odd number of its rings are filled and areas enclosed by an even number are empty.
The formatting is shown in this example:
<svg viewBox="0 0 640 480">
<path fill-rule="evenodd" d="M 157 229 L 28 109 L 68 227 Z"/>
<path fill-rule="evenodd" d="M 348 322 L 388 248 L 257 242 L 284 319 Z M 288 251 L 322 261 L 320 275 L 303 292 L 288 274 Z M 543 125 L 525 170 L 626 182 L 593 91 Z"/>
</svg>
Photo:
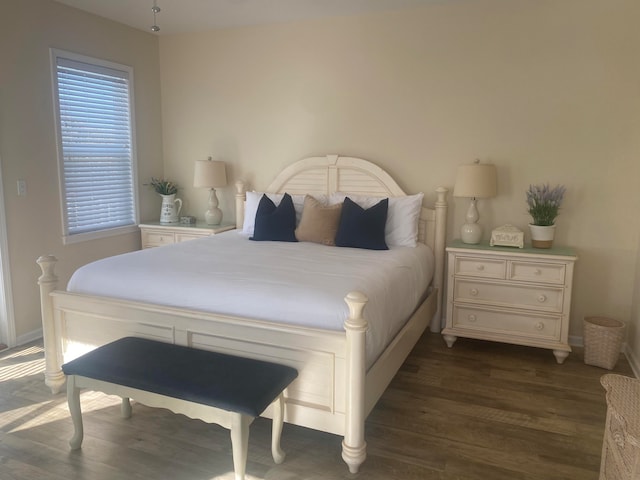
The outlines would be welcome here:
<svg viewBox="0 0 640 480">
<path fill-rule="evenodd" d="M 389 199 L 385 198 L 365 210 L 349 197 L 344 199 L 336 234 L 336 246 L 389 250 L 384 241 Z"/>
</svg>

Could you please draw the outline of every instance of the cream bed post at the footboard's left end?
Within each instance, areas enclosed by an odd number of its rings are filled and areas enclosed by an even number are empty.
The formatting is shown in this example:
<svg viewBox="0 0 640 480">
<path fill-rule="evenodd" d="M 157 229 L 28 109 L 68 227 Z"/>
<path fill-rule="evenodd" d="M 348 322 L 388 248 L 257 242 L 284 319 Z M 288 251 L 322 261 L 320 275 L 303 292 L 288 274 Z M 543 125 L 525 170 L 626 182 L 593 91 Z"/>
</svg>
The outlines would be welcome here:
<svg viewBox="0 0 640 480">
<path fill-rule="evenodd" d="M 56 331 L 53 299 L 50 295 L 58 284 L 58 277 L 53 271 L 57 261 L 58 259 L 53 255 L 43 255 L 37 260 L 42 270 L 42 275 L 38 278 L 38 285 L 40 285 L 40 311 L 42 314 L 42 337 L 44 340 L 44 383 L 51 389 L 52 393 L 60 391 L 66 378 L 61 368 L 60 338 Z"/>
</svg>

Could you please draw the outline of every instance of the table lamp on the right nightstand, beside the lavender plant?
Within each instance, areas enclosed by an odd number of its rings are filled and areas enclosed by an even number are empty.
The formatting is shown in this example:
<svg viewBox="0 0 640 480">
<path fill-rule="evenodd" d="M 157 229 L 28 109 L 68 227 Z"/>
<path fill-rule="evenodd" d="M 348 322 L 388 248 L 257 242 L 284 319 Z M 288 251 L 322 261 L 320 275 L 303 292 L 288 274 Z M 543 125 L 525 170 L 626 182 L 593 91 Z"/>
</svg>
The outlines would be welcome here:
<svg viewBox="0 0 640 480">
<path fill-rule="evenodd" d="M 471 165 L 460 165 L 458 167 L 453 196 L 471 198 L 466 223 L 462 225 L 460 230 L 460 238 L 463 243 L 480 243 L 482 226 L 478 224 L 480 216 L 476 207 L 476 199 L 496 196 L 496 177 L 495 165 L 481 164 L 479 160 L 476 160 Z"/>
</svg>

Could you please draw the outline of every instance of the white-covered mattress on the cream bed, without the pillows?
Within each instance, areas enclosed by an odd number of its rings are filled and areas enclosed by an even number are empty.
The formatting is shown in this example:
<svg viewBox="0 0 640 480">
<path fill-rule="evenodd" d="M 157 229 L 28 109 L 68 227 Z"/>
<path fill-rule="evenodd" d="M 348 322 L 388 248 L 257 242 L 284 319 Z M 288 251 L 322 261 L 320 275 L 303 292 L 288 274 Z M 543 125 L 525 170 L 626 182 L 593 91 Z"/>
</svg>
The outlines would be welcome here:
<svg viewBox="0 0 640 480">
<path fill-rule="evenodd" d="M 431 249 L 372 251 L 254 242 L 235 231 L 105 258 L 78 269 L 71 292 L 343 330 L 350 291 L 369 297 L 371 364 L 425 296 Z"/>
</svg>

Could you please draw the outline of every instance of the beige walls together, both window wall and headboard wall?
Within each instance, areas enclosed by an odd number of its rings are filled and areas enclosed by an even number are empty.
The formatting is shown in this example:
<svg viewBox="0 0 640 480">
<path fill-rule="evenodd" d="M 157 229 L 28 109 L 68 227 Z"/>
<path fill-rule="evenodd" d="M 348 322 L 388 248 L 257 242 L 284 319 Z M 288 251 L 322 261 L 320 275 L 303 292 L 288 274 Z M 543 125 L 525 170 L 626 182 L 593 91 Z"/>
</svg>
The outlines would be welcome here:
<svg viewBox="0 0 640 480">
<path fill-rule="evenodd" d="M 38 255 L 60 258 L 64 284 L 78 265 L 139 246 L 135 234 L 62 245 L 50 47 L 134 67 L 139 178 L 164 169 L 199 217 L 207 194 L 190 187 L 193 162 L 208 155 L 258 189 L 308 155 L 361 156 L 429 202 L 457 165 L 480 158 L 499 171 L 499 196 L 479 203 L 487 231 L 525 229 L 527 186 L 563 183 L 557 242 L 580 255 L 571 335 L 584 315 L 637 324 L 639 20 L 635 0 L 462 1 L 160 37 L 158 64 L 153 35 L 49 0 L 5 0 L 0 159 L 17 334 L 40 326 Z M 232 187 L 220 197 L 231 219 Z M 453 238 L 467 201 L 450 201 Z M 158 208 L 142 190 L 141 217 Z"/>
</svg>

